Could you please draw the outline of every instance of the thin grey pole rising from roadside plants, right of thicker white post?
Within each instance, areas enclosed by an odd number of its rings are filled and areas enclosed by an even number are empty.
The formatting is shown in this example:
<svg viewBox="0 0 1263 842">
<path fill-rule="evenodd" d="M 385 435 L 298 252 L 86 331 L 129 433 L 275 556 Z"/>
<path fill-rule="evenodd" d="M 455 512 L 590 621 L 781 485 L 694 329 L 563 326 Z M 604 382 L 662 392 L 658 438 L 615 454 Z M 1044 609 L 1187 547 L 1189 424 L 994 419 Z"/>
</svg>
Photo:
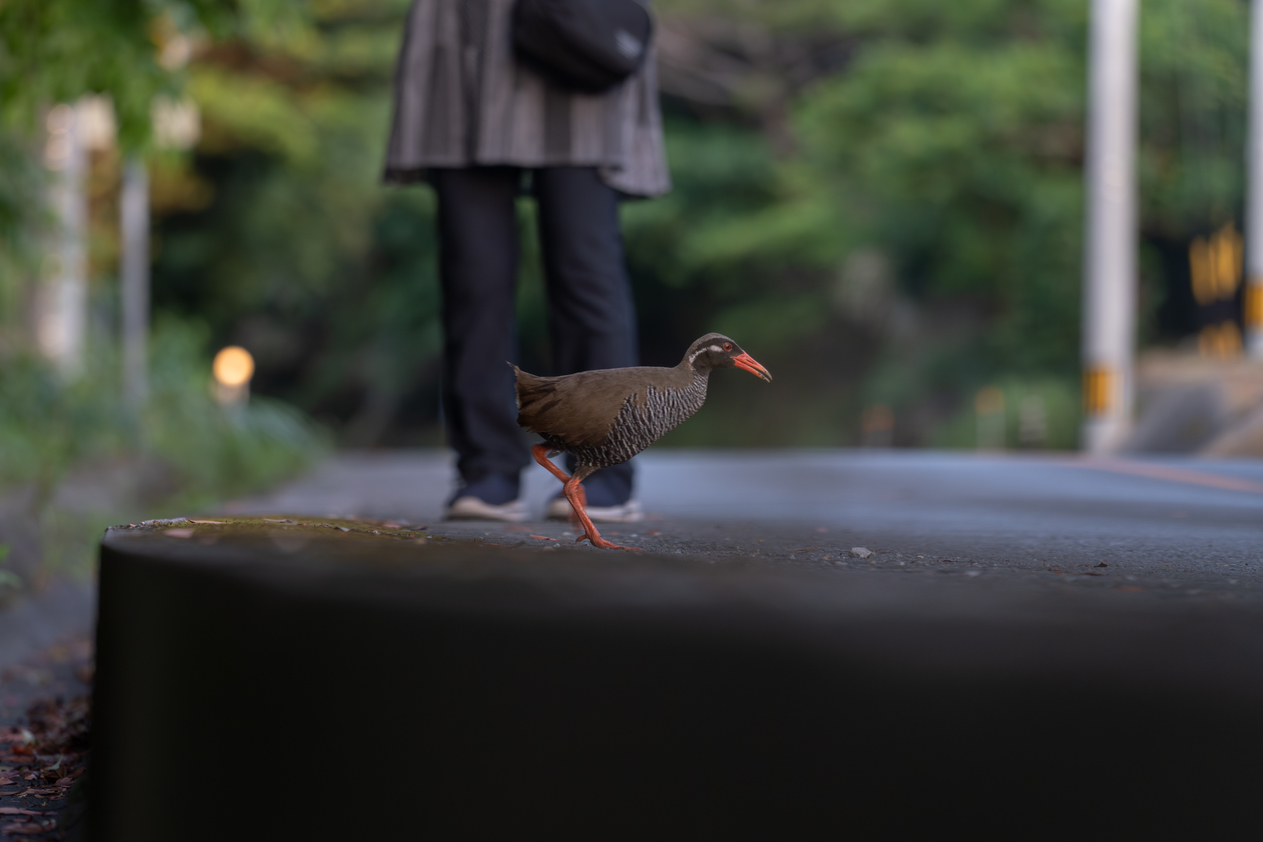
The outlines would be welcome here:
<svg viewBox="0 0 1263 842">
<path fill-rule="evenodd" d="M 149 170 L 136 157 L 123 167 L 119 216 L 123 396 L 136 410 L 149 390 Z"/>
</svg>

